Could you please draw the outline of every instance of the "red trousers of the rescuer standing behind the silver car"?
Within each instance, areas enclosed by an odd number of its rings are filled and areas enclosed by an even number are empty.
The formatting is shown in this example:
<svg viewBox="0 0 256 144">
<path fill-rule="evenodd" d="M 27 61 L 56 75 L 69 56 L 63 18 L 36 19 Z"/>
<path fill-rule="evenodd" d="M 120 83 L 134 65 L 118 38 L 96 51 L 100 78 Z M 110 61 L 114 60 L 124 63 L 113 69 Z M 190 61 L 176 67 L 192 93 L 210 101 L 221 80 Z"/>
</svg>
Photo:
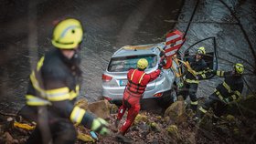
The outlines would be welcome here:
<svg viewBox="0 0 256 144">
<path fill-rule="evenodd" d="M 122 128 L 119 129 L 123 135 L 131 127 L 134 119 L 136 118 L 141 109 L 140 99 L 141 98 L 131 96 L 127 93 L 124 93 L 123 95 L 123 105 L 119 108 L 117 115 L 118 120 L 122 119 L 125 110 L 128 109 L 126 121 L 123 123 Z"/>
</svg>

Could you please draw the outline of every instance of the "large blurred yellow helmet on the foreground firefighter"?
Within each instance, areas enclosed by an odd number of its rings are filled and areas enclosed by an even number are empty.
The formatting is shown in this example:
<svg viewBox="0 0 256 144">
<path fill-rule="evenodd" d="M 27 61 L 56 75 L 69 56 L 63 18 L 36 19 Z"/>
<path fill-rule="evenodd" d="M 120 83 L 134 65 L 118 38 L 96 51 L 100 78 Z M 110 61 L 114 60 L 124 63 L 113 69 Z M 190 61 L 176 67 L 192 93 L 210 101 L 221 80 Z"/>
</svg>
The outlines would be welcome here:
<svg viewBox="0 0 256 144">
<path fill-rule="evenodd" d="M 80 45 L 82 35 L 80 21 L 73 18 L 65 19 L 55 26 L 51 43 L 60 49 L 74 49 Z"/>
</svg>

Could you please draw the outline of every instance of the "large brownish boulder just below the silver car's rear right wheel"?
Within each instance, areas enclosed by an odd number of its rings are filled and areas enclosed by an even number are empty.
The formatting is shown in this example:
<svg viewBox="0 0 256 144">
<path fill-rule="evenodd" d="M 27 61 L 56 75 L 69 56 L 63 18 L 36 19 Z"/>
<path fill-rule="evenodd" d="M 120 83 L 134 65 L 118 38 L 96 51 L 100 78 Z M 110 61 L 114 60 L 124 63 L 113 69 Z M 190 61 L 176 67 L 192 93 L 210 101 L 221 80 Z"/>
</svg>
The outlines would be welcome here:
<svg viewBox="0 0 256 144">
<path fill-rule="evenodd" d="M 187 120 L 184 101 L 176 101 L 165 110 L 165 117 L 169 117 L 177 124 Z"/>
</svg>

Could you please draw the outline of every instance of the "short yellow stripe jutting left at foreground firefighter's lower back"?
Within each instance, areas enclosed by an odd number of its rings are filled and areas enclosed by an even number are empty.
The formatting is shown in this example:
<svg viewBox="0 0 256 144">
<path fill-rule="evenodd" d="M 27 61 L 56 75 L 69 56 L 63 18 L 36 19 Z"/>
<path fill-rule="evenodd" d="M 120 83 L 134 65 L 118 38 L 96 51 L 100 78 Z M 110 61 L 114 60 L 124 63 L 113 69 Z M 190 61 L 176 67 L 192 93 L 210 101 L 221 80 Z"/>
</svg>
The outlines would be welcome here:
<svg viewBox="0 0 256 144">
<path fill-rule="evenodd" d="M 26 99 L 27 99 L 27 105 L 28 106 L 46 106 L 46 105 L 51 105 L 51 103 L 48 100 L 42 99 L 42 98 L 37 98 L 37 97 L 32 96 L 32 95 L 26 95 Z"/>
</svg>

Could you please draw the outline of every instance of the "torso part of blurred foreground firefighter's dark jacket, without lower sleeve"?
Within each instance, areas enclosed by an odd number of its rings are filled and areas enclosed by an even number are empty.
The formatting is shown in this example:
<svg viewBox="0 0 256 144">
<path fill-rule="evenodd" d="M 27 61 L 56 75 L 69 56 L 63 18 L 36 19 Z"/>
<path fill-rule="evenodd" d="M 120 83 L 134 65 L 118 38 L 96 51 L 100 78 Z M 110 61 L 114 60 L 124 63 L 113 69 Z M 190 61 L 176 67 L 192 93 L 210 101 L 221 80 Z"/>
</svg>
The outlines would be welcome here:
<svg viewBox="0 0 256 144">
<path fill-rule="evenodd" d="M 79 95 L 80 69 L 62 60 L 58 50 L 41 57 L 30 74 L 27 105 L 50 105 L 52 101 L 72 100 Z M 76 75 L 77 74 L 77 75 Z"/>
</svg>

